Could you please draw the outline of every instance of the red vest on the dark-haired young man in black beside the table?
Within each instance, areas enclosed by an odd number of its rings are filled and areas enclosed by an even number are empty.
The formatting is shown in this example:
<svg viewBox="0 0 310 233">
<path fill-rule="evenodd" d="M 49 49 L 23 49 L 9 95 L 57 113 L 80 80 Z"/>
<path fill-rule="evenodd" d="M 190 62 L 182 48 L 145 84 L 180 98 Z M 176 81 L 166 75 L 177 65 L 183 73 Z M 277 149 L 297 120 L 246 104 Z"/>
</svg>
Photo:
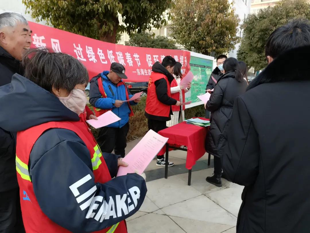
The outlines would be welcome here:
<svg viewBox="0 0 310 233">
<path fill-rule="evenodd" d="M 148 95 L 146 97 L 145 112 L 153 116 L 170 117 L 170 105 L 163 104 L 157 98 L 155 81 L 164 78 L 167 82 L 167 94 L 171 97 L 170 83 L 161 73 L 152 72 L 148 81 Z"/>
</svg>

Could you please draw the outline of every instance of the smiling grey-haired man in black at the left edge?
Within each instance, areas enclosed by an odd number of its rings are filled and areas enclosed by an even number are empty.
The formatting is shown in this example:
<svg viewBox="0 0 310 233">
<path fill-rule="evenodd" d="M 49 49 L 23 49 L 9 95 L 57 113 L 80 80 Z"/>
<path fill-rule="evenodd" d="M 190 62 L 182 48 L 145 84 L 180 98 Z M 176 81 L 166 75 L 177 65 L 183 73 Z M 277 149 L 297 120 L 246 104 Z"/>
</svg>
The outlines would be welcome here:
<svg viewBox="0 0 310 233">
<path fill-rule="evenodd" d="M 0 86 L 9 84 L 12 75 L 23 74 L 20 60 L 31 44 L 27 20 L 16 13 L 0 14 Z M 11 112 L 7 114 L 18 114 Z M 24 232 L 15 166 L 16 132 L 0 128 L 0 232 Z"/>
</svg>

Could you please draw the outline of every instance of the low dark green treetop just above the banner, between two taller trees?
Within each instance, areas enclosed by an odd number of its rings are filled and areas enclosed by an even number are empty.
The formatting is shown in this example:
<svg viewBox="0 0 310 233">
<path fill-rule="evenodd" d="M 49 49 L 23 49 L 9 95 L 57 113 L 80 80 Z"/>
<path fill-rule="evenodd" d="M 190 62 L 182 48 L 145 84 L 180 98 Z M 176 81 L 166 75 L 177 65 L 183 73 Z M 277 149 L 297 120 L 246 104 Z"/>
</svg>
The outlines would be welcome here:
<svg viewBox="0 0 310 233">
<path fill-rule="evenodd" d="M 131 34 L 129 41 L 126 41 L 125 44 L 145 48 L 177 49 L 173 40 L 165 36 L 155 37 L 154 34 L 147 32 Z"/>
</svg>

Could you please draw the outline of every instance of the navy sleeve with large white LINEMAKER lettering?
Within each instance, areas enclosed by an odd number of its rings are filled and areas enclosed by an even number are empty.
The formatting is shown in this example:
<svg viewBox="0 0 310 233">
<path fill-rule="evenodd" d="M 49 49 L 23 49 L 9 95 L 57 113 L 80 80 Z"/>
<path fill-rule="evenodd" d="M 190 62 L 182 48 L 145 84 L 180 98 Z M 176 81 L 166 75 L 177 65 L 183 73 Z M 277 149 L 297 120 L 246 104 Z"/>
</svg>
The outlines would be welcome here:
<svg viewBox="0 0 310 233">
<path fill-rule="evenodd" d="M 72 232 L 94 232 L 139 210 L 147 189 L 137 174 L 95 183 L 90 154 L 72 131 L 53 129 L 30 154 L 30 177 L 42 211 Z"/>
</svg>

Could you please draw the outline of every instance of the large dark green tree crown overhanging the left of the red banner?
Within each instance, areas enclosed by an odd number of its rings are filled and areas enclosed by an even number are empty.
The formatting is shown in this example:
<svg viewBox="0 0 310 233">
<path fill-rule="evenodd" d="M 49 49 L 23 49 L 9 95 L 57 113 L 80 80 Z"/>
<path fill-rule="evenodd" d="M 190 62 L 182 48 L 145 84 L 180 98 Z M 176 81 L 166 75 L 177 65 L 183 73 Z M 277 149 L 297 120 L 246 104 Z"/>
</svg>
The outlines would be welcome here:
<svg viewBox="0 0 310 233">
<path fill-rule="evenodd" d="M 160 28 L 167 21 L 163 12 L 173 1 L 161 0 L 22 0 L 37 21 L 94 39 L 116 42 L 116 33 Z M 124 25 L 119 25 L 118 13 Z M 170 14 L 168 13 L 168 19 Z"/>
</svg>

